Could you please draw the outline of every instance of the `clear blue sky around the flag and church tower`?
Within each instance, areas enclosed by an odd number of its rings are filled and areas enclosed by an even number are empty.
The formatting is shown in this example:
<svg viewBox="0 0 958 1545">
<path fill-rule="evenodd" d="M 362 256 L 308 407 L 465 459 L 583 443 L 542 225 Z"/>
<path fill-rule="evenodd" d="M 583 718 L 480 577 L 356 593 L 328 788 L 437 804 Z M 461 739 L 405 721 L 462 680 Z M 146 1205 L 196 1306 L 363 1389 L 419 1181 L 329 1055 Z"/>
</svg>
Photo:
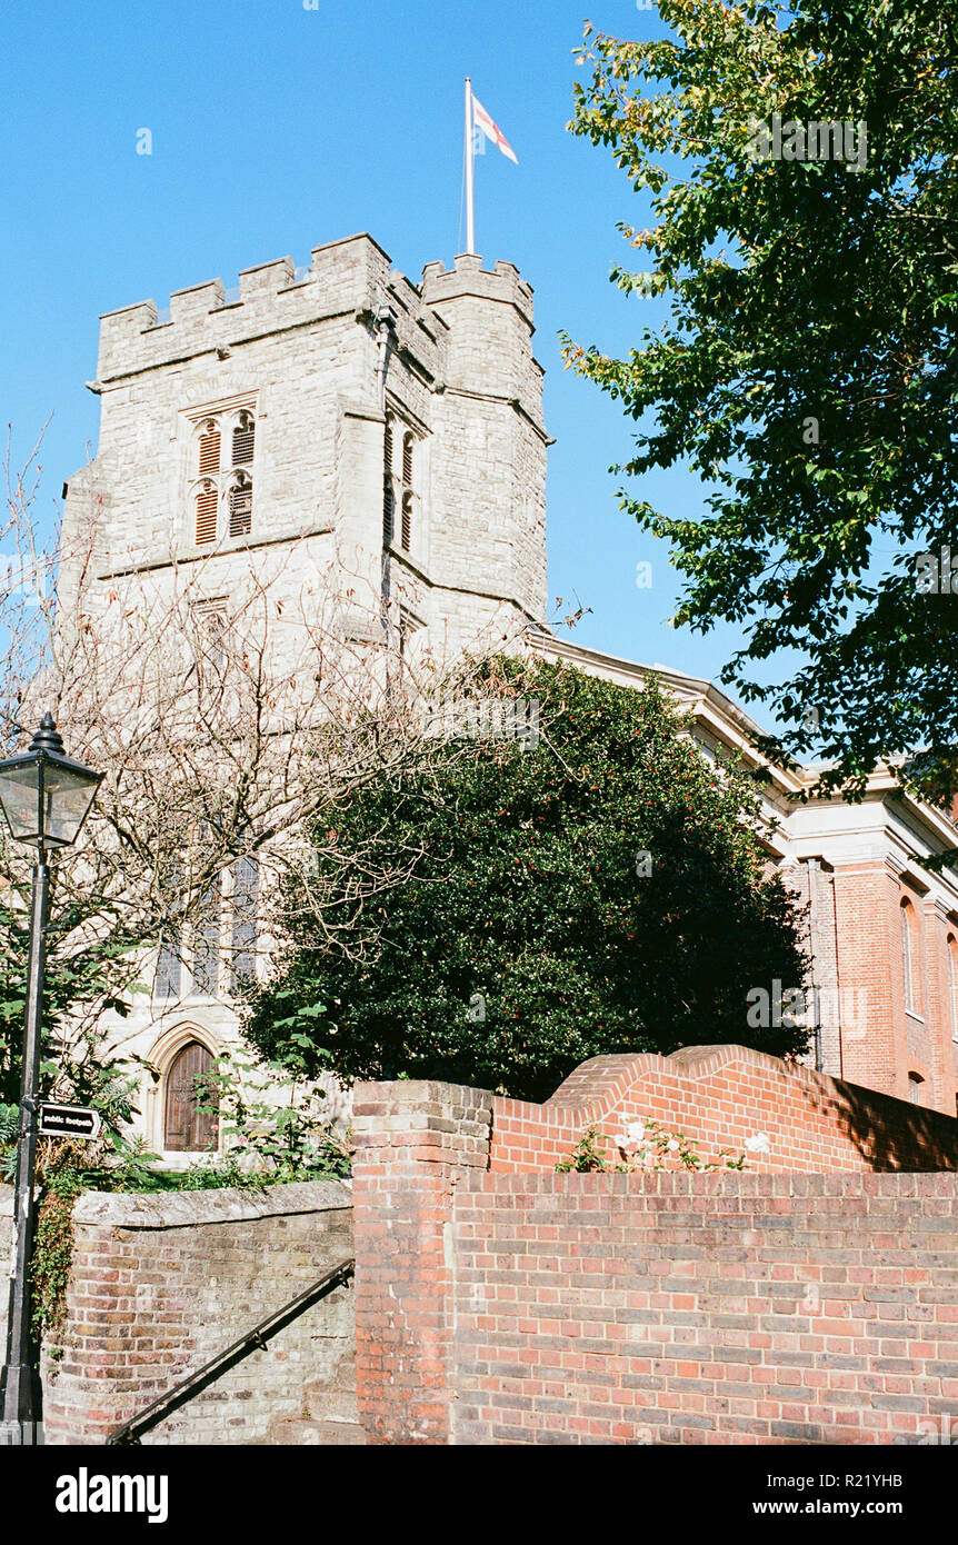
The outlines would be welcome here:
<svg viewBox="0 0 958 1545">
<path fill-rule="evenodd" d="M 515 147 L 476 159 L 476 244 L 536 292 L 550 451 L 550 593 L 592 607 L 573 637 L 715 677 L 722 629 L 672 630 L 663 544 L 617 507 L 612 462 L 629 420 L 561 368 L 558 331 L 624 352 L 651 320 L 609 283 L 617 221 L 641 201 L 607 151 L 566 131 L 586 0 L 5 0 L 0 17 L 3 236 L 0 411 L 22 454 L 53 414 L 42 507 L 96 448 L 97 317 L 172 289 L 368 230 L 419 281 L 465 244 L 464 77 Z M 654 37 L 635 0 L 589 8 L 600 31 Z M 138 154 L 148 128 L 153 153 Z M 462 233 L 462 235 L 460 235 Z M 669 510 L 702 508 L 675 468 L 644 482 Z M 652 587 L 635 584 L 652 564 Z M 566 610 L 566 607 L 562 607 Z"/>
</svg>

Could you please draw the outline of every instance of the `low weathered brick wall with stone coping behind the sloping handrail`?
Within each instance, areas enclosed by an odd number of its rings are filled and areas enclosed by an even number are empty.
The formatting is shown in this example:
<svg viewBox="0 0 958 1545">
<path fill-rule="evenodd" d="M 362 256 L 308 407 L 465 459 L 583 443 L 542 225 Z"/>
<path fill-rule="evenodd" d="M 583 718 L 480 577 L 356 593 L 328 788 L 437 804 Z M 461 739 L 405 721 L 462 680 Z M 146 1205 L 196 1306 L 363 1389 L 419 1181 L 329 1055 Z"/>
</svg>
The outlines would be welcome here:
<svg viewBox="0 0 958 1545">
<path fill-rule="evenodd" d="M 66 1326 L 53 1341 L 63 1357 L 43 1369 L 46 1441 L 104 1443 L 351 1255 L 351 1196 L 338 1182 L 80 1197 Z M 352 1347 L 352 1289 L 338 1287 L 142 1441 L 263 1441 L 273 1417 L 300 1414 L 307 1383 L 334 1381 Z"/>
</svg>

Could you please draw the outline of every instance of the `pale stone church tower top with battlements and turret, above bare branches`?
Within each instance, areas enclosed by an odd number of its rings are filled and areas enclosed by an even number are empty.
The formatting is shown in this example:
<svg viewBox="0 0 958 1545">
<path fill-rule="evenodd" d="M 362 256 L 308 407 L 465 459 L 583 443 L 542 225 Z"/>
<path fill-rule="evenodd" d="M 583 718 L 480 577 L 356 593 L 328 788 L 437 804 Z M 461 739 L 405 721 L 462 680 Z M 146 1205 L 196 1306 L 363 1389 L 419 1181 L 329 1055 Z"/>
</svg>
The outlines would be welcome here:
<svg viewBox="0 0 958 1545">
<path fill-rule="evenodd" d="M 388 603 L 396 637 L 436 654 L 542 623 L 549 437 L 532 334 L 532 289 L 510 263 L 431 263 L 414 286 L 368 235 L 317 247 L 306 269 L 246 269 L 236 292 L 176 290 L 168 315 L 153 301 L 107 314 L 90 383 L 99 453 L 66 488 L 63 615 L 96 502 L 105 593 L 212 558 L 207 582 L 229 595 L 295 542 L 298 575 L 341 564 Z"/>
</svg>

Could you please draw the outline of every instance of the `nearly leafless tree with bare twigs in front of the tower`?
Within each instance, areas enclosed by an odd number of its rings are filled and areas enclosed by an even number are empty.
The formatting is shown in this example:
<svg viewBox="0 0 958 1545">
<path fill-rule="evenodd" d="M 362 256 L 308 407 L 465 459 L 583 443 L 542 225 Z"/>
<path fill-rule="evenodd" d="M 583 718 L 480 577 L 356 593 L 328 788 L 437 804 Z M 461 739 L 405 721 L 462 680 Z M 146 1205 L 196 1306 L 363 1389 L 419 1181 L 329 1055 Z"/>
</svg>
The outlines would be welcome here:
<svg viewBox="0 0 958 1545">
<path fill-rule="evenodd" d="M 105 1023 L 150 993 L 156 946 L 196 953 L 210 916 L 230 969 L 249 930 L 219 929 L 224 878 L 256 865 L 261 890 L 301 857 L 303 822 L 363 782 L 436 752 L 419 700 L 459 675 L 425 650 L 397 669 L 397 618 L 374 582 L 320 570 L 303 544 L 252 565 L 223 596 L 216 552 L 136 565 L 111 587 L 108 494 L 93 462 L 66 531 L 37 513 L 40 440 L 15 471 L 3 457 L 0 754 L 26 749 L 53 711 L 70 756 L 104 771 L 79 842 L 57 853 L 43 1000 L 42 1092 L 90 1100 L 110 1129 L 136 1078 L 108 1065 Z M 218 601 L 210 601 L 218 596 Z M 399 613 L 399 592 L 392 613 Z M 383 647 L 385 646 L 385 647 Z M 324 845 L 324 874 L 355 901 L 394 876 Z M 15 1132 L 29 944 L 31 850 L 0 831 L 0 1145 Z"/>
</svg>

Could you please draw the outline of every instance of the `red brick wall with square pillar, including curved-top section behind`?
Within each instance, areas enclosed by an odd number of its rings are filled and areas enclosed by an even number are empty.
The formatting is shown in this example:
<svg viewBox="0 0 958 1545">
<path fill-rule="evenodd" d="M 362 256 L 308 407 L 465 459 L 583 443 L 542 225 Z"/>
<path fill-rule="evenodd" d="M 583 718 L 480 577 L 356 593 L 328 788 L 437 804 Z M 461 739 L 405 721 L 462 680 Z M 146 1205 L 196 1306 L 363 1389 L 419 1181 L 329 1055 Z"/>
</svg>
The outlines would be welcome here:
<svg viewBox="0 0 958 1545">
<path fill-rule="evenodd" d="M 743 1048 L 596 1058 L 544 1106 L 392 1083 L 354 1111 L 371 1441 L 958 1432 L 958 1182 L 875 1173 L 958 1168 L 953 1119 Z M 553 1173 L 587 1125 L 640 1114 L 706 1157 L 769 1151 L 746 1173 Z"/>
</svg>

